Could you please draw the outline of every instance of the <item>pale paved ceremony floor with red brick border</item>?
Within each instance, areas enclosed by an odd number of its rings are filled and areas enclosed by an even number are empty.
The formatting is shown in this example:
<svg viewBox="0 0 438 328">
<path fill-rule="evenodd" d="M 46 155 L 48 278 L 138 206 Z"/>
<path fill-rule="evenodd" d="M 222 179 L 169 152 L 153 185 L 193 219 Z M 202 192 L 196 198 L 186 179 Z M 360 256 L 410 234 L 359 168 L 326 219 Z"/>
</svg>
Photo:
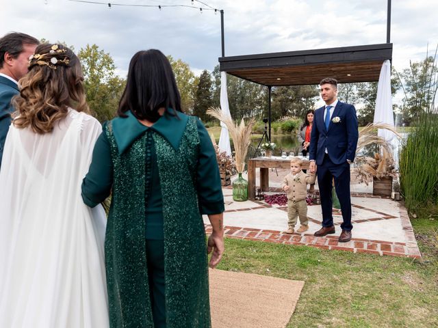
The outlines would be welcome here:
<svg viewBox="0 0 438 328">
<path fill-rule="evenodd" d="M 278 173 L 278 176 L 276 175 Z M 258 172 L 257 172 L 258 174 Z M 280 193 L 279 189 L 286 170 L 270 171 L 270 191 L 266 194 Z M 257 178 L 257 184 L 259 180 Z M 315 185 L 318 190 L 318 184 Z M 333 210 L 336 234 L 314 237 L 321 228 L 320 205 L 308 207 L 309 230 L 304 234 L 284 234 L 287 229 L 287 206 L 270 206 L 264 201 L 234 202 L 231 186 L 222 189 L 224 193 L 225 234 L 230 238 L 244 238 L 271 243 L 309 245 L 324 249 L 338 249 L 366 252 L 379 255 L 421 257 L 407 210 L 402 202 L 372 195 L 372 182 L 368 186 L 359 184 L 352 177 L 352 240 L 338 243 L 341 233 L 342 215 Z M 204 218 L 206 231 L 211 232 L 207 217 Z M 297 225 L 296 228 L 298 228 Z"/>
</svg>

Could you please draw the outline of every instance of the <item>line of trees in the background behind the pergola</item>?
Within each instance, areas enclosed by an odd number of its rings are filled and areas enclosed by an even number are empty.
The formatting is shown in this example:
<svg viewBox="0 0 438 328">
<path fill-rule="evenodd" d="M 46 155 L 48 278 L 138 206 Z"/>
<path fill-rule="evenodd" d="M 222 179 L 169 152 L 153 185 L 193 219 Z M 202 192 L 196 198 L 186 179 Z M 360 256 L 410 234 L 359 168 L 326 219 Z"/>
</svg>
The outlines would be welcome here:
<svg viewBox="0 0 438 328">
<path fill-rule="evenodd" d="M 118 101 L 125 88 L 125 79 L 116 74 L 114 59 L 96 44 L 87 45 L 78 52 L 81 60 L 87 100 L 90 109 L 101 122 L 114 117 Z M 181 59 L 168 56 L 181 94 L 181 107 L 185 113 L 196 115 L 203 122 L 213 121 L 205 112 L 211 106 L 220 107 L 220 71 L 203 70 L 199 77 Z M 409 68 L 397 72 L 392 68 L 391 92 L 402 92 L 403 100 L 394 104 L 398 122 L 409 126 L 427 107 L 435 106 L 438 81 L 431 76 L 437 71 L 433 57 L 411 63 Z M 234 119 L 268 115 L 268 87 L 227 76 L 229 109 Z M 338 85 L 338 98 L 355 104 L 359 125 L 373 121 L 376 106 L 377 82 L 344 83 Z M 308 109 L 315 109 L 320 99 L 318 85 L 272 87 L 272 120 L 284 117 L 304 118 Z"/>
</svg>

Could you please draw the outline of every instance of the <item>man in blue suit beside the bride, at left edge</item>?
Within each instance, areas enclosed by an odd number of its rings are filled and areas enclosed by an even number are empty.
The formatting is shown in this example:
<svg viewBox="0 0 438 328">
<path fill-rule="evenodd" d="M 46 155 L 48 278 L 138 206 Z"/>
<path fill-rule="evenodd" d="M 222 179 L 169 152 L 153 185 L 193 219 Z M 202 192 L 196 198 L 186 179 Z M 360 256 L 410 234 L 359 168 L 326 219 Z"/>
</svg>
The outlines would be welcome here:
<svg viewBox="0 0 438 328">
<path fill-rule="evenodd" d="M 27 73 L 29 56 L 40 44 L 24 33 L 8 33 L 0 38 L 0 165 L 13 111 L 11 99 L 18 94 L 18 80 Z"/>
</svg>

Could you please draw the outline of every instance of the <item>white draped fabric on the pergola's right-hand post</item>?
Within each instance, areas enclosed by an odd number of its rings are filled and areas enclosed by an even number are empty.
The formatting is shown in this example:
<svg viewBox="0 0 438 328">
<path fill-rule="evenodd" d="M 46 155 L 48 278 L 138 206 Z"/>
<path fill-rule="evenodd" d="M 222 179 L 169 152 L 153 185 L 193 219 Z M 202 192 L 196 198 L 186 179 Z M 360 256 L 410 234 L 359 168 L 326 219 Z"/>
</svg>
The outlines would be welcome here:
<svg viewBox="0 0 438 328">
<path fill-rule="evenodd" d="M 378 78 L 374 123 L 386 123 L 394 126 L 391 96 L 391 63 L 388 59 L 383 61 L 381 74 Z M 378 135 L 387 141 L 391 141 L 395 137 L 394 133 L 383 128 L 378 129 Z"/>
</svg>

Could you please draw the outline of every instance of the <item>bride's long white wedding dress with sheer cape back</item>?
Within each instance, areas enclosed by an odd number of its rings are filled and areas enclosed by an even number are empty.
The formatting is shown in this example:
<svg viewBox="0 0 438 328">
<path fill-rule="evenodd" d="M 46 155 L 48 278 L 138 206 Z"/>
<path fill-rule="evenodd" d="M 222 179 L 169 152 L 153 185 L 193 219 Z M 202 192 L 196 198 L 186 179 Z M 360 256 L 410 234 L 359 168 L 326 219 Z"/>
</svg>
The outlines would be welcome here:
<svg viewBox="0 0 438 328">
<path fill-rule="evenodd" d="M 10 126 L 0 171 L 0 327 L 109 327 L 106 217 L 82 202 L 101 124 L 69 109 L 53 132 Z"/>
</svg>

